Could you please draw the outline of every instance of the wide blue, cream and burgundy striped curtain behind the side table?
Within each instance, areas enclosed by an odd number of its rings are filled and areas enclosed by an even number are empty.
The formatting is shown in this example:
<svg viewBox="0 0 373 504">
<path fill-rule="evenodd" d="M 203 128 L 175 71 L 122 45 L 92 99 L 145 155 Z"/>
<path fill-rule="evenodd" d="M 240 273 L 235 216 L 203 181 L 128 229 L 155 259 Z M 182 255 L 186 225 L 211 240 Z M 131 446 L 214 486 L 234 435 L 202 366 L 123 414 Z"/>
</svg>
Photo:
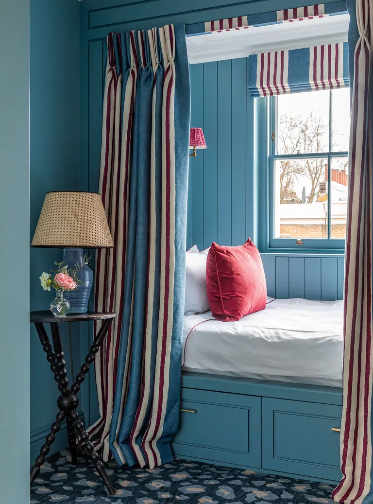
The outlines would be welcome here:
<svg viewBox="0 0 373 504">
<path fill-rule="evenodd" d="M 96 360 L 104 460 L 173 460 L 184 314 L 190 86 L 184 26 L 107 38 L 99 191 L 114 240 L 95 309 L 117 312 Z M 95 328 L 98 331 L 99 327 Z"/>
</svg>

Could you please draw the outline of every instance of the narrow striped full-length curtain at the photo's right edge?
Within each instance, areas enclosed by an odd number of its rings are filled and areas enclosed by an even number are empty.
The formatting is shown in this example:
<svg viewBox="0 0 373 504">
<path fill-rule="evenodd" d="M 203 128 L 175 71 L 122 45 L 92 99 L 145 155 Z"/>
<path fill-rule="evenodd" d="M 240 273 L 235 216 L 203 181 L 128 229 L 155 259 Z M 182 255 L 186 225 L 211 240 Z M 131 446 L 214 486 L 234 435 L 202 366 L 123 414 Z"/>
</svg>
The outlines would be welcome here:
<svg viewBox="0 0 373 504">
<path fill-rule="evenodd" d="M 372 492 L 372 53 L 373 4 L 351 0 L 351 133 L 349 147 L 342 480 L 336 502 L 371 502 Z M 353 42 L 353 43 L 352 43 Z"/>
</svg>

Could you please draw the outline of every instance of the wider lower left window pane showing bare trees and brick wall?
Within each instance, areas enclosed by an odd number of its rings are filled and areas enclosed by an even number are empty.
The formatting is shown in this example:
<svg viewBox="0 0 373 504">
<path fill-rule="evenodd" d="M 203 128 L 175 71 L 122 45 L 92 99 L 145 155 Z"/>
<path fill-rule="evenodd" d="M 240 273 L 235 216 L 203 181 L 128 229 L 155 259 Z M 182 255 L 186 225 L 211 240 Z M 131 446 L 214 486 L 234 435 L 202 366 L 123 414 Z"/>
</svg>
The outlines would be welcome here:
<svg viewBox="0 0 373 504">
<path fill-rule="evenodd" d="M 274 168 L 274 238 L 328 237 L 328 162 L 281 159 Z"/>
</svg>

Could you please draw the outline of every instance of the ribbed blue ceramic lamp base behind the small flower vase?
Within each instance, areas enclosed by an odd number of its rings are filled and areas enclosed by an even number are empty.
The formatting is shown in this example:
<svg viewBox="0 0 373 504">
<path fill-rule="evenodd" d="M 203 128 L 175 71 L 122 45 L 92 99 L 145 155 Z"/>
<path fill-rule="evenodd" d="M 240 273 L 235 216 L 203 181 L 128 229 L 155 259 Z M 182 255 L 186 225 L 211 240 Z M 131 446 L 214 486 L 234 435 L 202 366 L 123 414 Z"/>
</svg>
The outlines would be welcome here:
<svg viewBox="0 0 373 504">
<path fill-rule="evenodd" d="M 77 269 L 83 262 L 83 248 L 64 248 L 62 261 L 67 268 Z M 93 284 L 93 271 L 89 266 L 83 266 L 77 275 L 82 282 L 75 290 L 64 292 L 63 297 L 70 303 L 69 313 L 85 313 L 88 310 L 88 301 Z"/>
</svg>

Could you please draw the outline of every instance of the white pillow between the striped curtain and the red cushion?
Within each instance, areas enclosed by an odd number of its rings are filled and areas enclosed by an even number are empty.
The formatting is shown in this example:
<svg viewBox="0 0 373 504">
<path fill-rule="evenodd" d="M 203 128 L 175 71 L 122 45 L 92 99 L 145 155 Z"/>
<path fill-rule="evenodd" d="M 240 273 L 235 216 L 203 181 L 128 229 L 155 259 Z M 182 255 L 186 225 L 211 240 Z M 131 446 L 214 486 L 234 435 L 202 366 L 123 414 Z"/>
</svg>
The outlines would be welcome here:
<svg viewBox="0 0 373 504">
<path fill-rule="evenodd" d="M 185 259 L 184 313 L 185 315 L 197 315 L 210 309 L 206 291 L 207 254 L 196 254 L 195 250 L 190 249 L 186 253 Z"/>
</svg>

